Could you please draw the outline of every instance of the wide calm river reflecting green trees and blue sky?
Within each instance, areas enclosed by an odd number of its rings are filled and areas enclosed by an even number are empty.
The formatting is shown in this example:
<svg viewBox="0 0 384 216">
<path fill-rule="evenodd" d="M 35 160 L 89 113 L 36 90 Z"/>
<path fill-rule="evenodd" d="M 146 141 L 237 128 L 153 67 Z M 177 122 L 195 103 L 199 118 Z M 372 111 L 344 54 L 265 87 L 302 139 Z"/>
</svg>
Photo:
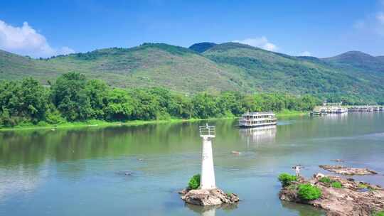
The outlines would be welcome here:
<svg viewBox="0 0 384 216">
<path fill-rule="evenodd" d="M 200 172 L 206 121 L 0 132 L 0 215 L 324 215 L 281 202 L 277 175 L 320 164 L 368 167 L 356 177 L 384 185 L 384 112 L 279 118 L 269 129 L 209 121 L 216 184 L 238 205 L 185 205 L 176 193 Z M 234 155 L 231 151 L 240 151 Z"/>
</svg>

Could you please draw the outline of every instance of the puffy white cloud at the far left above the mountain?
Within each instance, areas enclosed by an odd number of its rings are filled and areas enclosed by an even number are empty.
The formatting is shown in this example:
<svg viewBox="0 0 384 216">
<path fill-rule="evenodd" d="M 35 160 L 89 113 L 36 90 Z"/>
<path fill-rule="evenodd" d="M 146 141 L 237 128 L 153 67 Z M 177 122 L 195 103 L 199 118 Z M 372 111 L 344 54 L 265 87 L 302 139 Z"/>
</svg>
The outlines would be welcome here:
<svg viewBox="0 0 384 216">
<path fill-rule="evenodd" d="M 27 22 L 24 22 L 21 27 L 14 27 L 1 20 L 0 49 L 35 58 L 75 52 L 66 46 L 62 48 L 50 47 L 46 37 L 36 32 Z"/>
</svg>

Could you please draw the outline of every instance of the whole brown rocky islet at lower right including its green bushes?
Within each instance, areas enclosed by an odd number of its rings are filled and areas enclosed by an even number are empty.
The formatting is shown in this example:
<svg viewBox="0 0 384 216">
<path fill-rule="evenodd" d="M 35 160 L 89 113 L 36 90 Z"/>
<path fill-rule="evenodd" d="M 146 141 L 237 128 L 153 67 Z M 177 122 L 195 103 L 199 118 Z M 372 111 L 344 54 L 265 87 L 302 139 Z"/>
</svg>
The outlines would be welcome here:
<svg viewBox="0 0 384 216">
<path fill-rule="evenodd" d="M 282 182 L 280 200 L 298 202 L 326 210 L 326 215 L 381 215 L 384 210 L 384 188 L 318 173 L 305 179 L 279 175 Z"/>
</svg>

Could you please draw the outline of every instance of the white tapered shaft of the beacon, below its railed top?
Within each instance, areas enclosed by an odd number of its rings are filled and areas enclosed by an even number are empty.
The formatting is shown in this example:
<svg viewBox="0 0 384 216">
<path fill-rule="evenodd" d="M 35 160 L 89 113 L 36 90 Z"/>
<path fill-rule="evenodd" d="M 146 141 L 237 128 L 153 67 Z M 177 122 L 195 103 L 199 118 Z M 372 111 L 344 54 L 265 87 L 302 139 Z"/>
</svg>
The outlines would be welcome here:
<svg viewBox="0 0 384 216">
<path fill-rule="evenodd" d="M 203 137 L 200 188 L 216 188 L 215 171 L 213 169 L 212 139 L 210 137 Z"/>
</svg>

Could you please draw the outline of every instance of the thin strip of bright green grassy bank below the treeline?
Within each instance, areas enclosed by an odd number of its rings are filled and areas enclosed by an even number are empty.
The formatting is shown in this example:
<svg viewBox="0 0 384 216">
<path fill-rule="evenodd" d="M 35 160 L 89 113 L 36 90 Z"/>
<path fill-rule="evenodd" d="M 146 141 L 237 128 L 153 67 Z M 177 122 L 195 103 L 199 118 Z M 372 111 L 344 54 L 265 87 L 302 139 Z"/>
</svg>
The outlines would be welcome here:
<svg viewBox="0 0 384 216">
<path fill-rule="evenodd" d="M 277 117 L 291 117 L 302 116 L 307 112 L 284 110 L 277 112 Z M 18 125 L 14 127 L 0 128 L 0 131 L 17 131 L 17 130 L 33 130 L 33 129 L 61 129 L 61 128 L 74 128 L 74 127 L 90 127 L 90 126 L 139 126 L 144 124 L 165 124 L 165 123 L 180 123 L 180 122 L 193 122 L 193 121 L 213 121 L 220 119 L 237 119 L 238 117 L 223 117 L 223 118 L 209 118 L 209 119 L 166 119 L 166 120 L 135 120 L 135 121 L 104 121 L 104 120 L 88 120 L 88 121 L 75 121 L 65 122 L 63 124 L 45 124 L 45 125 Z"/>
</svg>

